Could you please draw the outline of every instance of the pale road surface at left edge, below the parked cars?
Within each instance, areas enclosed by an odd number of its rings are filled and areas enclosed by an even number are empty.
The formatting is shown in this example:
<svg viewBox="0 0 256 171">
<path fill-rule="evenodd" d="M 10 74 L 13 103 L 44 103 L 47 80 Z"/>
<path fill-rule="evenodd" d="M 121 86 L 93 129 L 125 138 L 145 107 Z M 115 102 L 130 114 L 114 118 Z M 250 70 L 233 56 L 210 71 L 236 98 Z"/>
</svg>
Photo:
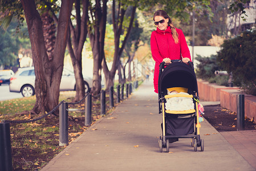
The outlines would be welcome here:
<svg viewBox="0 0 256 171">
<path fill-rule="evenodd" d="M 8 84 L 2 84 L 0 86 L 0 101 L 22 98 L 21 93 L 10 92 Z"/>
</svg>

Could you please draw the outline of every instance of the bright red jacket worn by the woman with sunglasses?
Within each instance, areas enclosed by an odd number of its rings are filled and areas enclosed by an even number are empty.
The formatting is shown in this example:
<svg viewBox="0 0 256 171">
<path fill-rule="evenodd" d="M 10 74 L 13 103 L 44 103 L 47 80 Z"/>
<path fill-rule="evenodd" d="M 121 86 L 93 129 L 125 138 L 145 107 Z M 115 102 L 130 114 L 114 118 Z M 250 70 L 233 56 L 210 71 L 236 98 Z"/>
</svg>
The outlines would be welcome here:
<svg viewBox="0 0 256 171">
<path fill-rule="evenodd" d="M 151 34 L 151 52 L 153 59 L 156 61 L 154 73 L 154 88 L 156 93 L 158 93 L 159 65 L 164 58 L 170 58 L 171 60 L 189 58 L 191 61 L 188 44 L 186 44 L 183 32 L 178 28 L 176 28 L 176 31 L 178 33 L 177 44 L 172 37 L 170 26 L 166 30 L 157 28 Z"/>
</svg>

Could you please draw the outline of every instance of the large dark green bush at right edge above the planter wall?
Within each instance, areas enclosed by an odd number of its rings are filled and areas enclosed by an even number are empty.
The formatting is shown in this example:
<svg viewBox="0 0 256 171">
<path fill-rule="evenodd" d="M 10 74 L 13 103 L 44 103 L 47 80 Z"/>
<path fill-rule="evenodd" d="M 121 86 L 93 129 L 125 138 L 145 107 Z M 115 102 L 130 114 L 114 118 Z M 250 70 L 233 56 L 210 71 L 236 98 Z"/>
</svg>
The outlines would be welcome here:
<svg viewBox="0 0 256 171">
<path fill-rule="evenodd" d="M 235 86 L 256 95 L 256 30 L 245 31 L 237 37 L 225 40 L 218 52 L 221 67 L 233 74 Z"/>
</svg>

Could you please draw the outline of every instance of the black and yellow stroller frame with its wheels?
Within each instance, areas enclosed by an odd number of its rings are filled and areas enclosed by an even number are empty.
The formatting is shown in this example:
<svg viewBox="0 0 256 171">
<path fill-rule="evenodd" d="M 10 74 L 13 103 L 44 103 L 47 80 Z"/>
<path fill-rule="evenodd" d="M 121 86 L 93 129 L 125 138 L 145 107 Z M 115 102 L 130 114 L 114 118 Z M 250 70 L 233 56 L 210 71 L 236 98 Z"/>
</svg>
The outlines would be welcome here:
<svg viewBox="0 0 256 171">
<path fill-rule="evenodd" d="M 175 64 L 176 62 L 182 63 L 181 60 L 172 60 L 172 63 Z M 184 64 L 184 63 L 183 63 Z M 186 67 L 190 67 L 192 74 L 194 74 L 194 67 L 193 63 L 189 62 L 189 66 L 187 64 Z M 199 103 L 199 97 L 198 97 L 198 92 L 197 92 L 197 83 L 195 82 L 194 88 L 192 88 L 192 92 L 190 92 L 189 95 L 166 95 L 166 92 L 161 89 L 160 85 L 160 76 L 162 72 L 164 71 L 165 68 L 165 63 L 162 62 L 160 64 L 159 68 L 159 113 L 162 115 L 162 136 L 159 137 L 159 148 L 160 152 L 162 152 L 162 148 L 166 147 L 166 152 L 169 152 L 169 143 L 172 143 L 173 139 L 185 139 L 189 138 L 191 139 L 191 146 L 194 147 L 194 151 L 197 151 L 197 147 L 201 147 L 201 151 L 204 151 L 204 140 L 200 138 L 200 127 L 201 124 L 199 123 L 199 111 L 198 111 L 198 103 Z M 195 74 L 194 77 L 196 78 Z M 164 87 L 164 86 L 163 86 Z M 190 89 L 191 91 L 191 89 Z M 190 111 L 168 111 L 165 110 L 165 101 L 169 97 L 189 97 L 193 98 L 193 103 L 194 103 L 194 109 Z M 190 116 L 194 117 L 194 124 L 193 124 L 193 133 L 189 133 L 188 135 L 167 135 L 166 134 L 166 118 L 168 116 L 174 116 L 176 115 L 177 118 L 183 117 L 183 116 Z"/>
</svg>

